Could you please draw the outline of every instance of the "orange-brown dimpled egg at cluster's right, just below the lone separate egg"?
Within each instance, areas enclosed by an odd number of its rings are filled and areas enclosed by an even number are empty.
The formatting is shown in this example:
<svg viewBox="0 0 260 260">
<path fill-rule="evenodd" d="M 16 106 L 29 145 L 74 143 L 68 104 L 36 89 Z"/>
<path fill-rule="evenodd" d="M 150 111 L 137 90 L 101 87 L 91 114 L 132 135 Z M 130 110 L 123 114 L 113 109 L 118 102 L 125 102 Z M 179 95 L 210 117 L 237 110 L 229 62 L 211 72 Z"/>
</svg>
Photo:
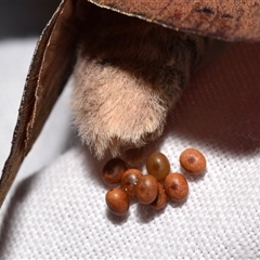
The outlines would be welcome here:
<svg viewBox="0 0 260 260">
<path fill-rule="evenodd" d="M 181 173 L 170 173 L 165 179 L 165 191 L 174 202 L 182 202 L 187 197 L 188 184 Z"/>
</svg>

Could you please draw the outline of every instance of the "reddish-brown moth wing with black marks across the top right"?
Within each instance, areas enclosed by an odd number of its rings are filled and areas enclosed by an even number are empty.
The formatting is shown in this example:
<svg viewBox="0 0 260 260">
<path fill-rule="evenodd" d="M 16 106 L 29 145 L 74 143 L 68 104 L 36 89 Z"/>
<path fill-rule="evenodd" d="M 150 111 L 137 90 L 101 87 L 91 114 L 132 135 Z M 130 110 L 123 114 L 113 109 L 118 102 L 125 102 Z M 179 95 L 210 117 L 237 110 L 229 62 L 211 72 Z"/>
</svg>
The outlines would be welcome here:
<svg viewBox="0 0 260 260">
<path fill-rule="evenodd" d="M 90 1 L 178 30 L 230 41 L 260 40 L 260 0 Z"/>
</svg>

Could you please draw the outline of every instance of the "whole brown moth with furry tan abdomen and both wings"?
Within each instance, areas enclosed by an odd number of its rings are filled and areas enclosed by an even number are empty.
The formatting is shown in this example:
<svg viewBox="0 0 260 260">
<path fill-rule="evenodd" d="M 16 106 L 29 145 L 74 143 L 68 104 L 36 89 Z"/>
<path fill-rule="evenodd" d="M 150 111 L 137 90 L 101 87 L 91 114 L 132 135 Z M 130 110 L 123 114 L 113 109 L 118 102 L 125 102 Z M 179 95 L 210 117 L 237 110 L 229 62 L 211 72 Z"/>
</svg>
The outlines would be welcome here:
<svg viewBox="0 0 260 260">
<path fill-rule="evenodd" d="M 0 180 L 0 205 L 68 77 L 82 141 L 98 157 L 162 133 L 209 38 L 260 40 L 260 0 L 64 0 L 31 61 Z"/>
</svg>

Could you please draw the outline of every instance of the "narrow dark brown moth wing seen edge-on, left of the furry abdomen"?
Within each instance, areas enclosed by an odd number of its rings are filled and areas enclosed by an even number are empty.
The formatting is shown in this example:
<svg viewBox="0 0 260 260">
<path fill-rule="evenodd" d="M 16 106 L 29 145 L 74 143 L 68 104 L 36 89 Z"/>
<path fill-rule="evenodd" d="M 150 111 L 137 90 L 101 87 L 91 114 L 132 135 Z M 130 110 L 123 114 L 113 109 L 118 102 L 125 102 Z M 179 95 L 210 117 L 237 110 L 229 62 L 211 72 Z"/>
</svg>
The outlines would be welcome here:
<svg viewBox="0 0 260 260">
<path fill-rule="evenodd" d="M 0 180 L 0 206 L 72 74 L 79 29 L 75 17 L 75 2 L 64 0 L 60 4 L 36 47 L 11 153 Z"/>
</svg>

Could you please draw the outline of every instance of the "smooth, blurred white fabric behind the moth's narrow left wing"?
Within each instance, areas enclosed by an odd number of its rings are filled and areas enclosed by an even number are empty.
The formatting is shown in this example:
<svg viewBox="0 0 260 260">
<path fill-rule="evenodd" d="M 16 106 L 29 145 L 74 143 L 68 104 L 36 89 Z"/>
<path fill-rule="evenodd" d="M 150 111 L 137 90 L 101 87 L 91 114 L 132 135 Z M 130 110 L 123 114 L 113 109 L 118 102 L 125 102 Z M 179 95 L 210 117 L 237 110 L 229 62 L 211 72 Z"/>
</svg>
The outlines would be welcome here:
<svg viewBox="0 0 260 260">
<path fill-rule="evenodd" d="M 0 169 L 9 156 L 18 107 L 30 60 L 37 39 L 10 39 L 0 41 Z M 67 88 L 54 106 L 40 138 L 24 161 L 15 183 L 51 164 L 73 144 L 69 110 L 70 89 Z M 14 185 L 15 186 L 15 185 Z M 14 187 L 12 191 L 15 190 Z M 11 193 L 12 193 L 11 191 Z M 8 196 L 9 199 L 10 195 Z M 3 204 L 3 208 L 8 203 Z M 2 224 L 3 209 L 0 212 Z"/>
</svg>

